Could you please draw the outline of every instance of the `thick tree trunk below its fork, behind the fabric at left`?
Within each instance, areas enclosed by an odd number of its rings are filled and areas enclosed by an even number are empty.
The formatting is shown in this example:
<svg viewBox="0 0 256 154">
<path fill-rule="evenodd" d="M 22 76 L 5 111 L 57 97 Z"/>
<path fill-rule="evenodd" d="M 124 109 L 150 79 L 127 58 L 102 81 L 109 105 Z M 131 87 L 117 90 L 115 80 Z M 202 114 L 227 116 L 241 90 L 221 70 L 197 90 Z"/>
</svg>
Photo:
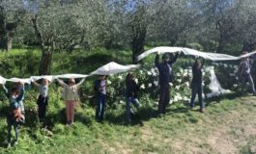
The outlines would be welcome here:
<svg viewBox="0 0 256 154">
<path fill-rule="evenodd" d="M 42 51 L 42 58 L 40 62 L 39 74 L 49 75 L 51 66 L 52 52 L 49 50 Z"/>
</svg>

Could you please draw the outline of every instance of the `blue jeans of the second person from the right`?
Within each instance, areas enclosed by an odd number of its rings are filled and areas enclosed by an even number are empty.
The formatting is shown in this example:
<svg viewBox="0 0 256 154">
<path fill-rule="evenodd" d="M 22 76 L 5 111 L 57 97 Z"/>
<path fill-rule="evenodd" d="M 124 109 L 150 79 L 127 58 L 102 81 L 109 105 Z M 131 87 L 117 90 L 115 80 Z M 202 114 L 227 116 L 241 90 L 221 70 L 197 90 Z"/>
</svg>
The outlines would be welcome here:
<svg viewBox="0 0 256 154">
<path fill-rule="evenodd" d="M 192 83 L 191 90 L 192 90 L 192 96 L 191 96 L 191 101 L 190 101 L 190 108 L 194 107 L 195 97 L 196 97 L 196 94 L 198 94 L 200 109 L 203 109 L 204 103 L 203 103 L 203 98 L 202 98 L 202 93 L 203 93 L 202 83 Z"/>
</svg>

